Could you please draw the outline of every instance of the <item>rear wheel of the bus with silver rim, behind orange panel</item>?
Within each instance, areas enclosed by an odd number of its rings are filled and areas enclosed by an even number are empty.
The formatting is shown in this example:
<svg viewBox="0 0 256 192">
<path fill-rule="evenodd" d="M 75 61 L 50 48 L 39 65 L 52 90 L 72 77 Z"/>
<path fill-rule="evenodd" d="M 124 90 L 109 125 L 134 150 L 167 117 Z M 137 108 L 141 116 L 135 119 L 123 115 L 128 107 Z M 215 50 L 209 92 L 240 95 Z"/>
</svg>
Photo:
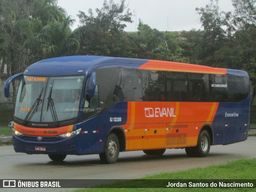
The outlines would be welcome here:
<svg viewBox="0 0 256 192">
<path fill-rule="evenodd" d="M 208 131 L 203 130 L 199 137 L 197 146 L 186 147 L 185 151 L 191 157 L 206 157 L 210 151 L 211 140 Z"/>
</svg>

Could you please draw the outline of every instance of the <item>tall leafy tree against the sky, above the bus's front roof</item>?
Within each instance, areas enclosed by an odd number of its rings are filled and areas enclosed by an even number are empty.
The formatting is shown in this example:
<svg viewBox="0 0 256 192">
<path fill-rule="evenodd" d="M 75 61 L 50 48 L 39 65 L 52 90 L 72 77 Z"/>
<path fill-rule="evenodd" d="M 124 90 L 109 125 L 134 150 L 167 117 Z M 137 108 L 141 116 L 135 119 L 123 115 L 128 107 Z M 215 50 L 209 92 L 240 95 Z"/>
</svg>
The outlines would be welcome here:
<svg viewBox="0 0 256 192">
<path fill-rule="evenodd" d="M 120 4 L 104 0 L 103 7 L 96 8 L 96 15 L 92 9 L 88 10 L 88 15 L 80 11 L 81 26 L 74 31 L 80 41 L 80 54 L 129 57 L 130 40 L 124 28 L 126 22 L 132 22 L 131 16 L 125 0 L 121 0 Z"/>
</svg>

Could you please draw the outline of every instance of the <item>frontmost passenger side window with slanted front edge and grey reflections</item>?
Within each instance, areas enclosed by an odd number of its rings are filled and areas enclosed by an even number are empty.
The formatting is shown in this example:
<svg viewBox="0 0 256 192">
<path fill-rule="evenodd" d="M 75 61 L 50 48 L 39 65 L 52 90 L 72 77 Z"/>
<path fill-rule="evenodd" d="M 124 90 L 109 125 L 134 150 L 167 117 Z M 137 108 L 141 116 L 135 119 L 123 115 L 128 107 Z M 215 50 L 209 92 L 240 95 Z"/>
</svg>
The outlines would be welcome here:
<svg viewBox="0 0 256 192">
<path fill-rule="evenodd" d="M 119 69 L 114 101 L 142 101 L 142 74 L 138 69 Z"/>
</svg>

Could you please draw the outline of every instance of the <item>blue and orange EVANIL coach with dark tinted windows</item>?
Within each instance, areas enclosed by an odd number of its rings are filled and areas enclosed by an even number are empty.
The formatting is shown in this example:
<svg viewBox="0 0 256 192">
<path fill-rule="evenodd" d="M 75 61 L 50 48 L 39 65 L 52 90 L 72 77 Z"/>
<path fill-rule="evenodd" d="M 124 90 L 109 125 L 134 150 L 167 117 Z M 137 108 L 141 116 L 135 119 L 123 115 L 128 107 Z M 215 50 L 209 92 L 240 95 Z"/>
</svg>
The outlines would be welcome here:
<svg viewBox="0 0 256 192">
<path fill-rule="evenodd" d="M 248 137 L 250 86 L 241 70 L 146 59 L 67 56 L 39 61 L 24 73 L 13 124 L 16 152 L 162 155 L 184 148 L 205 157 L 210 146 Z"/>
</svg>

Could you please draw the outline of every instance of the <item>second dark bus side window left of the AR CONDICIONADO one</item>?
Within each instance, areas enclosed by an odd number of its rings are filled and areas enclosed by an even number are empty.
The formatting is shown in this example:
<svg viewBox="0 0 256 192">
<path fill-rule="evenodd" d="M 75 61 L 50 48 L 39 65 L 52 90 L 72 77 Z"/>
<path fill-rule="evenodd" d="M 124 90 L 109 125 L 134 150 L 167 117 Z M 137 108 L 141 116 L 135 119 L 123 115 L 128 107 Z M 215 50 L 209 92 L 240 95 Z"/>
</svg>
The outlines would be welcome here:
<svg viewBox="0 0 256 192">
<path fill-rule="evenodd" d="M 167 72 L 167 101 L 189 101 L 188 74 L 182 72 Z"/>
</svg>

